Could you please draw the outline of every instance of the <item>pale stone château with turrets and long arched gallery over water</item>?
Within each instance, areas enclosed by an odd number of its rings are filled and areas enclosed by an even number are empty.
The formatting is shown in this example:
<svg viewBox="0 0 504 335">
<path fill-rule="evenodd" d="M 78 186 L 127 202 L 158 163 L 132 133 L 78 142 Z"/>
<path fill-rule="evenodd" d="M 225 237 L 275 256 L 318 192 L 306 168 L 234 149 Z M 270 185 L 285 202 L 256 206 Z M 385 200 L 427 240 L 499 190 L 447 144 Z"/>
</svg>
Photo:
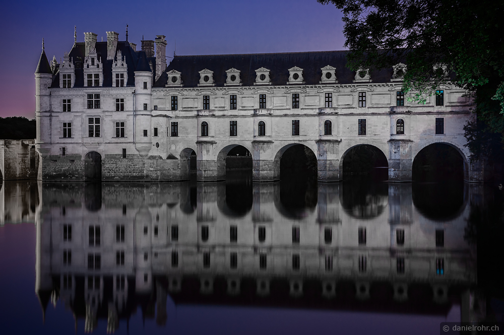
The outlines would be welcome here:
<svg viewBox="0 0 504 335">
<path fill-rule="evenodd" d="M 448 83 L 425 105 L 408 102 L 407 64 L 356 72 L 347 51 L 326 51 L 175 55 L 166 66 L 163 35 L 141 51 L 128 35 L 84 35 L 62 64 L 43 50 L 35 73 L 41 180 L 185 180 L 194 154 L 199 181 L 222 180 L 226 155 L 242 146 L 254 181 L 274 181 L 285 150 L 303 144 L 319 181 L 340 181 L 346 153 L 369 144 L 402 182 L 433 143 L 461 154 L 465 180 L 487 178 L 464 147 L 472 99 Z"/>
</svg>

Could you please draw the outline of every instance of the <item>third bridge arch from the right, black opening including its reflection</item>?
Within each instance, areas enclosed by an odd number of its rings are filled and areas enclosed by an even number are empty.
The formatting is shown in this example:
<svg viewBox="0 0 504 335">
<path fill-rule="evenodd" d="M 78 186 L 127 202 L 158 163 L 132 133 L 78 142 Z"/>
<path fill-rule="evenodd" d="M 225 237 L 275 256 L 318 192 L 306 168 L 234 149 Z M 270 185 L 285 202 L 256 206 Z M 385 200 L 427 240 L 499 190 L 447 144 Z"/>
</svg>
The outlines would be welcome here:
<svg viewBox="0 0 504 335">
<path fill-rule="evenodd" d="M 279 150 L 274 164 L 279 170 L 284 215 L 301 218 L 314 210 L 318 199 L 315 153 L 303 144 L 289 144 Z"/>
</svg>

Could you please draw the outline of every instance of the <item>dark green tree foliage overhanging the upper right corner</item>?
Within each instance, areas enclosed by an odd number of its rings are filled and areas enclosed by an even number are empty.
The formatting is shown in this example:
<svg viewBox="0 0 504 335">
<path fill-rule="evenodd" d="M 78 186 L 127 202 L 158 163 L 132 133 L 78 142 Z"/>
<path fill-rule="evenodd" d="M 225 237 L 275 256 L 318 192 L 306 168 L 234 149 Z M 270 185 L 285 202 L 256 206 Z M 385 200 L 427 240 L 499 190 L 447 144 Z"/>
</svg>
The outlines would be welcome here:
<svg viewBox="0 0 504 335">
<path fill-rule="evenodd" d="M 406 63 L 403 89 L 425 102 L 443 83 L 477 92 L 488 87 L 489 120 L 504 113 L 504 2 L 495 0 L 318 0 L 343 12 L 348 66 Z M 494 104 L 491 103 L 492 100 Z M 483 101 L 482 101 L 483 100 Z M 479 104 L 478 104 L 479 105 Z M 489 106 L 492 105 L 492 106 Z M 500 117 L 500 116 L 499 116 Z M 489 122 L 491 124 L 491 122 Z M 491 124 L 493 128 L 493 124 Z M 501 122 L 494 131 L 504 133 Z"/>
</svg>

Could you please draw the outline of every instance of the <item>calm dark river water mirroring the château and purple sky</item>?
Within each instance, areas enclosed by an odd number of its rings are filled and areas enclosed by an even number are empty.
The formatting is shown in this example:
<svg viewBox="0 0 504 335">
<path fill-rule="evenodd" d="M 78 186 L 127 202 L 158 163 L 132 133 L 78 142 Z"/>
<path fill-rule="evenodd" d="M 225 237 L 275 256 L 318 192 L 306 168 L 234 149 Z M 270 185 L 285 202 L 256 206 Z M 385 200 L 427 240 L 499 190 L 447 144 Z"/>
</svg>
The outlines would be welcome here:
<svg viewBox="0 0 504 335">
<path fill-rule="evenodd" d="M 240 173 L 5 182 L 0 332 L 434 334 L 447 320 L 501 318 L 475 233 L 498 192 Z"/>
</svg>

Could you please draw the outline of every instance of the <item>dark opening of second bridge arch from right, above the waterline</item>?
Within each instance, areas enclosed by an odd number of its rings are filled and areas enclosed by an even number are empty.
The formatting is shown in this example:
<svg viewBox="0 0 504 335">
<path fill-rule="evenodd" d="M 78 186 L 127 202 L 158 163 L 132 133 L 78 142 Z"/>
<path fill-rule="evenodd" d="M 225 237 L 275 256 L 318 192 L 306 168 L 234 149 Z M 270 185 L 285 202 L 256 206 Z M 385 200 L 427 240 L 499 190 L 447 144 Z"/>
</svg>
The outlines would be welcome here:
<svg viewBox="0 0 504 335">
<path fill-rule="evenodd" d="M 370 144 L 349 148 L 341 158 L 343 180 L 367 176 L 374 181 L 389 180 L 389 162 L 385 153 Z"/>
</svg>

